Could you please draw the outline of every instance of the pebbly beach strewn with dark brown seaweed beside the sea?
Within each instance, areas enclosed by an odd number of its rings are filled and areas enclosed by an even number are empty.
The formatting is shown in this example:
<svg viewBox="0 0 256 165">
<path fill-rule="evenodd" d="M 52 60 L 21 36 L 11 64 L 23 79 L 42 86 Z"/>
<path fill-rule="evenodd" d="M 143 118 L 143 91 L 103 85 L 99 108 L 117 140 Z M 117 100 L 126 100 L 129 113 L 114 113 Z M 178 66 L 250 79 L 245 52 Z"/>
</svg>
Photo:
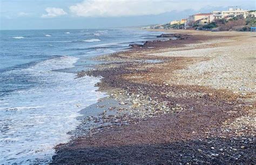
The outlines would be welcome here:
<svg viewBox="0 0 256 165">
<path fill-rule="evenodd" d="M 255 33 L 162 31 L 77 74 L 109 97 L 80 111 L 53 164 L 256 162 Z"/>
</svg>

